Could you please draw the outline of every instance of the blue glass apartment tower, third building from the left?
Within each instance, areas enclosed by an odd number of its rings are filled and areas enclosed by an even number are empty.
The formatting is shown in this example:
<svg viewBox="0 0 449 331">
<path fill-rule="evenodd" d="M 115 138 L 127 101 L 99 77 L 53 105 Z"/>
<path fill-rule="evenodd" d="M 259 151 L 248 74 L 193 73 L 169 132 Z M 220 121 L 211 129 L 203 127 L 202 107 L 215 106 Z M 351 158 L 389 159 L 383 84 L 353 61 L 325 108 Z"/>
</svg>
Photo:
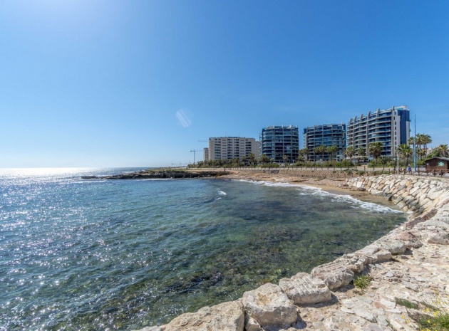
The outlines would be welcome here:
<svg viewBox="0 0 449 331">
<path fill-rule="evenodd" d="M 337 147 L 335 154 L 318 153 L 315 148 L 319 146 Z M 344 149 L 346 147 L 346 125 L 345 124 L 324 124 L 314 125 L 304 128 L 304 148 L 309 149 L 307 159 L 310 161 L 341 161 L 344 159 Z"/>
</svg>

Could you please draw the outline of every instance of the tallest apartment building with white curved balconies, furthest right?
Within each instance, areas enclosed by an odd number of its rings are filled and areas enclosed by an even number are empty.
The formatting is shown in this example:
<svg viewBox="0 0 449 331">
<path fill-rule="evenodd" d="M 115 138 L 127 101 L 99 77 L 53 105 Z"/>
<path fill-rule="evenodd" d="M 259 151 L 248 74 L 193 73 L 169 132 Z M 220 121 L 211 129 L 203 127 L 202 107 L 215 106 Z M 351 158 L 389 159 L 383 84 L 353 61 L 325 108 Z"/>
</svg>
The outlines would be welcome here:
<svg viewBox="0 0 449 331">
<path fill-rule="evenodd" d="M 395 156 L 399 145 L 410 137 L 410 111 L 406 105 L 368 112 L 351 118 L 346 126 L 346 147 L 363 148 L 373 142 L 383 145 L 382 156 Z"/>
</svg>

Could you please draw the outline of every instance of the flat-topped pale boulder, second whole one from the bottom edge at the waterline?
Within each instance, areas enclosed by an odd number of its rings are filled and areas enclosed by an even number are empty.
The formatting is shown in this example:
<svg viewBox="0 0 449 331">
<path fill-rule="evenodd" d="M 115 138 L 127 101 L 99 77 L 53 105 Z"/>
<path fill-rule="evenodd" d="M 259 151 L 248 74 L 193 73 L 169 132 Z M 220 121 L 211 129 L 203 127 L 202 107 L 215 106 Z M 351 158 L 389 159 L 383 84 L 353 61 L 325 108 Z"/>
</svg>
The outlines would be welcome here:
<svg viewBox="0 0 449 331">
<path fill-rule="evenodd" d="M 279 286 L 295 305 L 324 303 L 331 300 L 331 291 L 323 280 L 308 273 L 297 273 L 291 278 L 279 280 Z"/>
</svg>

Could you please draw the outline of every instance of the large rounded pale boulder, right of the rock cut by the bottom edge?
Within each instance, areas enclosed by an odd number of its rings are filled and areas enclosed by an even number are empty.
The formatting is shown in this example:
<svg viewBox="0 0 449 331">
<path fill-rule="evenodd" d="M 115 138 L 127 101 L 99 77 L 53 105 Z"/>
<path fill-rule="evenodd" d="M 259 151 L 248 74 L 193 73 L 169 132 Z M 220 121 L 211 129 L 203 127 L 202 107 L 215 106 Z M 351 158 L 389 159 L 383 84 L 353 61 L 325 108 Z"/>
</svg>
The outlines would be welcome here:
<svg viewBox="0 0 449 331">
<path fill-rule="evenodd" d="M 249 317 L 262 327 L 291 325 L 298 313 L 287 294 L 278 285 L 267 283 L 243 294 L 242 303 Z"/>
</svg>

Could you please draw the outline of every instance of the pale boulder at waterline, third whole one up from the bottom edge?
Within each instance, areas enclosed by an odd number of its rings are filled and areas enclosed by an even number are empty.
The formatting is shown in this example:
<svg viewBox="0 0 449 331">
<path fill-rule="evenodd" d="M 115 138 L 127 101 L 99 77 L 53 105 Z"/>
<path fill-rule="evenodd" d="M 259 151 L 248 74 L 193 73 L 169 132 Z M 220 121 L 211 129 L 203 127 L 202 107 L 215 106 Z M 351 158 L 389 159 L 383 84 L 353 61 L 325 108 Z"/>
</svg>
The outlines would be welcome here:
<svg viewBox="0 0 449 331">
<path fill-rule="evenodd" d="M 333 261 L 314 268 L 311 271 L 314 278 L 324 280 L 329 290 L 348 285 L 354 278 L 354 273 L 342 261 Z"/>
</svg>

